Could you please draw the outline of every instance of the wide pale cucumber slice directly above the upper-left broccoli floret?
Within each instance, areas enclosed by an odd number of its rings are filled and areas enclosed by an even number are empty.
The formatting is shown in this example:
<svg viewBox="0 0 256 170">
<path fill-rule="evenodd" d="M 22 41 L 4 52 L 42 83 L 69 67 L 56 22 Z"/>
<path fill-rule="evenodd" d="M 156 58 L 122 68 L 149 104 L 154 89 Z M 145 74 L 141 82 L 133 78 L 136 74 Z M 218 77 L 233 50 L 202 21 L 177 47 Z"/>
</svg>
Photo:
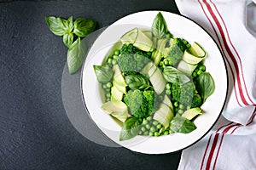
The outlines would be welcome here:
<svg viewBox="0 0 256 170">
<path fill-rule="evenodd" d="M 154 50 L 153 42 L 142 30 L 137 28 L 137 38 L 133 45 L 143 51 L 152 52 Z"/>
</svg>

